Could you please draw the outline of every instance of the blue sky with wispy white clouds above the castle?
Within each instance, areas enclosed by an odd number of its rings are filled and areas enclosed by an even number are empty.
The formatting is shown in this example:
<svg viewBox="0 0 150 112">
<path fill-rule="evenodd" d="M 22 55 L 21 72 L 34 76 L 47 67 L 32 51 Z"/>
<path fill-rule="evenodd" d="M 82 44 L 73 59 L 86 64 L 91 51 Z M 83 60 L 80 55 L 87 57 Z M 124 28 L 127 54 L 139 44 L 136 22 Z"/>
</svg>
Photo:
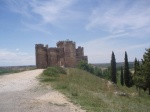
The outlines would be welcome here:
<svg viewBox="0 0 150 112">
<path fill-rule="evenodd" d="M 35 44 L 84 47 L 89 63 L 143 58 L 150 0 L 0 0 L 0 66 L 35 65 Z"/>
</svg>

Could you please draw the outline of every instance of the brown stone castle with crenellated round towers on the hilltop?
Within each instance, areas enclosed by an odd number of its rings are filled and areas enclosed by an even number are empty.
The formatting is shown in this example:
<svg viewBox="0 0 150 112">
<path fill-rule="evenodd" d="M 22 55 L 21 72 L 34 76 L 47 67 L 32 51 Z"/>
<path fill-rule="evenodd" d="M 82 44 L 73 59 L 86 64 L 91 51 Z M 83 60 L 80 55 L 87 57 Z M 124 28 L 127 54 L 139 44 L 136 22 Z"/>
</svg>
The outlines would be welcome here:
<svg viewBox="0 0 150 112">
<path fill-rule="evenodd" d="M 37 68 L 47 68 L 48 66 L 76 67 L 81 60 L 88 62 L 88 57 L 84 56 L 83 47 L 76 49 L 73 41 L 59 41 L 57 47 L 48 48 L 48 45 L 35 45 Z"/>
</svg>

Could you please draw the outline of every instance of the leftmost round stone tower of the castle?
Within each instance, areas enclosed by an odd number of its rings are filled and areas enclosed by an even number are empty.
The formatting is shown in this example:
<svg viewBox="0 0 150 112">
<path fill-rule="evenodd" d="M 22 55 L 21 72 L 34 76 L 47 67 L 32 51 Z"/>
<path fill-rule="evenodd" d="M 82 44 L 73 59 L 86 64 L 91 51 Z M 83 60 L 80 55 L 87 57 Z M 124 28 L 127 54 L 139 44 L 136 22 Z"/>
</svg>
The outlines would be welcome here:
<svg viewBox="0 0 150 112">
<path fill-rule="evenodd" d="M 46 68 L 47 67 L 47 48 L 43 44 L 35 45 L 35 55 L 36 55 L 36 66 L 37 68 Z"/>
</svg>

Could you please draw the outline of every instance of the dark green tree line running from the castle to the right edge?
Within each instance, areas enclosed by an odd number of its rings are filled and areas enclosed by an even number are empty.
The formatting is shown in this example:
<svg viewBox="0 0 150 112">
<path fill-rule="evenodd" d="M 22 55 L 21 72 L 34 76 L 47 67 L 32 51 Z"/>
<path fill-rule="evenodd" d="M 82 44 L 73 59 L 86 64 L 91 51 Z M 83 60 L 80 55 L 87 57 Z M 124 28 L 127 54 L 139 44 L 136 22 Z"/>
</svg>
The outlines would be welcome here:
<svg viewBox="0 0 150 112">
<path fill-rule="evenodd" d="M 113 83 L 117 84 L 117 68 L 115 54 L 112 51 L 111 64 L 108 69 L 101 70 L 98 67 L 93 67 L 91 64 L 81 61 L 78 64 L 78 68 L 86 70 L 92 74 L 95 74 L 101 78 L 109 79 Z M 135 58 L 134 60 L 134 73 L 129 70 L 128 55 L 125 51 L 124 66 L 120 68 L 120 83 L 122 86 L 128 88 L 133 85 L 139 90 L 149 90 L 150 95 L 150 48 L 146 49 L 141 61 Z"/>
</svg>

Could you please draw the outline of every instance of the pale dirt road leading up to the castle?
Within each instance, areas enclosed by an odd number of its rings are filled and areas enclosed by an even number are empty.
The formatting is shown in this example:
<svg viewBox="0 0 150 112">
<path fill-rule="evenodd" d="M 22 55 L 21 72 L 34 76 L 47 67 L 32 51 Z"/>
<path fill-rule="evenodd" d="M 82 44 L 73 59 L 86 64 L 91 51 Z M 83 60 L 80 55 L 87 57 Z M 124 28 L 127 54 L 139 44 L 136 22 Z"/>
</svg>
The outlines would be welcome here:
<svg viewBox="0 0 150 112">
<path fill-rule="evenodd" d="M 0 76 L 0 112 L 85 112 L 36 77 L 42 69 Z"/>
</svg>

